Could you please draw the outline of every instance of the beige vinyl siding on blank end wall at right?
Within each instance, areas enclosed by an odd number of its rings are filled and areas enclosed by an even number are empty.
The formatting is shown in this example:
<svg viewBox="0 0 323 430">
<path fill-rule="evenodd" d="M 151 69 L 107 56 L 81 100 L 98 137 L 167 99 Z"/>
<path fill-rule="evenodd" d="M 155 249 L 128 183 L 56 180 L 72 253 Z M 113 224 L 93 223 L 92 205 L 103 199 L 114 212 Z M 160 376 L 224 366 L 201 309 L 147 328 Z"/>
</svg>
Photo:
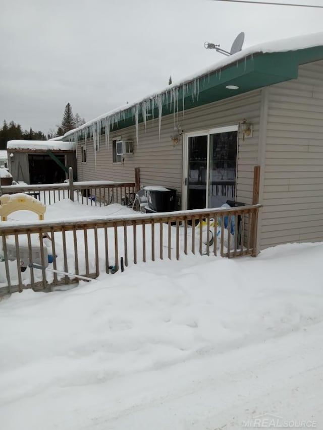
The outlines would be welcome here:
<svg viewBox="0 0 323 430">
<path fill-rule="evenodd" d="M 323 62 L 270 88 L 260 243 L 323 240 Z"/>
</svg>

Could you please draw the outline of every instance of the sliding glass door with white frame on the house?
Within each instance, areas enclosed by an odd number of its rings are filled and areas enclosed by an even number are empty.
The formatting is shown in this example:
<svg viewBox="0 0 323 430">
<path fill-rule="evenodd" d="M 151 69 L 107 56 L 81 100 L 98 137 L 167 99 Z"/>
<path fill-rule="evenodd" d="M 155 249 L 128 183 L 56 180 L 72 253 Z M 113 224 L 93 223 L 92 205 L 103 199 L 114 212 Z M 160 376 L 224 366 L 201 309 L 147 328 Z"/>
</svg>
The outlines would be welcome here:
<svg viewBox="0 0 323 430">
<path fill-rule="evenodd" d="M 231 126 L 186 136 L 184 208 L 217 208 L 235 200 L 237 130 L 237 126 Z"/>
</svg>

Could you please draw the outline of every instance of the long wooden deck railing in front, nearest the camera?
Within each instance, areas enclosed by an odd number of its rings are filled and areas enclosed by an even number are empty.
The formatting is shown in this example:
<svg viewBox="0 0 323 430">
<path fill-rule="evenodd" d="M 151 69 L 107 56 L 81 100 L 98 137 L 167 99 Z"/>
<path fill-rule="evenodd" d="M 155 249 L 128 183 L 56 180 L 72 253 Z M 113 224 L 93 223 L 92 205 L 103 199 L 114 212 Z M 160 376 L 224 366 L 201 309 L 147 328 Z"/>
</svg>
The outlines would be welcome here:
<svg viewBox="0 0 323 430">
<path fill-rule="evenodd" d="M 24 225 L 2 222 L 0 295 L 25 288 L 51 291 L 58 285 L 78 282 L 75 275 L 96 278 L 99 273 L 115 272 L 123 264 L 127 267 L 140 261 L 179 260 L 181 255 L 188 254 L 255 256 L 259 207 L 38 221 Z M 12 258 L 9 249 L 15 250 L 16 258 Z M 51 258 L 48 268 L 34 269 L 25 262 L 28 267 L 21 271 L 23 249 L 25 255 L 27 249 L 29 264 L 38 258 L 37 264 L 41 267 L 46 266 L 48 254 Z"/>
</svg>

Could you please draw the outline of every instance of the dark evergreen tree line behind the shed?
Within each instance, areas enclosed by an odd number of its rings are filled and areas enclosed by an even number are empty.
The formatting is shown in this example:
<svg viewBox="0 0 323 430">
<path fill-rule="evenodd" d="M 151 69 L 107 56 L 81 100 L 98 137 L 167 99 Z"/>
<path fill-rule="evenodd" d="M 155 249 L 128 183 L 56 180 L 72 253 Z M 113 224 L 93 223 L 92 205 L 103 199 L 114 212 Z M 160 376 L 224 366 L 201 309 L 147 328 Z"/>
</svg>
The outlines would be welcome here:
<svg viewBox="0 0 323 430">
<path fill-rule="evenodd" d="M 72 106 L 67 103 L 64 110 L 63 119 L 60 125 L 56 126 L 57 129 L 51 129 L 45 135 L 41 131 L 34 131 L 30 127 L 28 130 L 22 130 L 20 124 L 16 124 L 14 121 L 10 121 L 9 124 L 4 120 L 2 127 L 0 128 L 0 150 L 7 148 L 7 142 L 9 140 L 47 140 L 58 136 L 63 136 L 66 132 L 80 127 L 85 123 L 85 119 L 81 118 L 78 113 L 73 115 Z"/>
</svg>

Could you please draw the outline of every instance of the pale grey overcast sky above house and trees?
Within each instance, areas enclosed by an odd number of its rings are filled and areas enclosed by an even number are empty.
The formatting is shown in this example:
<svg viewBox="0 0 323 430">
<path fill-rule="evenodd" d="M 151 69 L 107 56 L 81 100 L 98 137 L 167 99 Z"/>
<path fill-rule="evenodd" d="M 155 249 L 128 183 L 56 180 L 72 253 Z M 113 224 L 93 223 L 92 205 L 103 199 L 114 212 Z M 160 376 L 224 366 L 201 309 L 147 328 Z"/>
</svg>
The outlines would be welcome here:
<svg viewBox="0 0 323 430">
<path fill-rule="evenodd" d="M 262 0 L 263 1 L 263 0 Z M 274 1 L 274 0 L 270 0 Z M 275 0 L 323 5 L 322 0 Z M 164 88 L 230 50 L 322 31 L 323 9 L 213 0 L 0 0 L 0 124 L 45 134 L 65 105 L 86 121 Z"/>
</svg>

